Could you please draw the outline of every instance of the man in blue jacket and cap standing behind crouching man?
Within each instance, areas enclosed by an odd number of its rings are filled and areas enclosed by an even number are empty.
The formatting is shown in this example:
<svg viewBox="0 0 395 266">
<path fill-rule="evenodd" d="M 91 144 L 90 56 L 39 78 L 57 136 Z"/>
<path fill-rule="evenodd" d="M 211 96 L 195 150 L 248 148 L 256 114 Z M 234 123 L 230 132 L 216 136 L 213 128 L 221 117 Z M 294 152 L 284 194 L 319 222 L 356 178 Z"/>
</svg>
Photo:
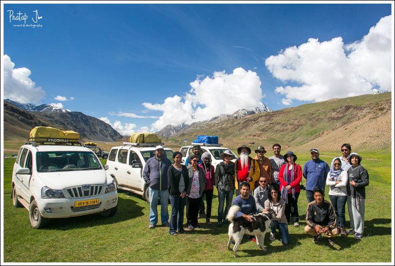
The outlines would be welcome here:
<svg viewBox="0 0 395 266">
<path fill-rule="evenodd" d="M 325 179 L 329 173 L 329 166 L 319 159 L 318 149 L 310 150 L 312 159 L 303 166 L 303 177 L 306 178 L 306 197 L 310 203 L 314 201 L 313 190 L 316 187 L 325 191 Z"/>
</svg>

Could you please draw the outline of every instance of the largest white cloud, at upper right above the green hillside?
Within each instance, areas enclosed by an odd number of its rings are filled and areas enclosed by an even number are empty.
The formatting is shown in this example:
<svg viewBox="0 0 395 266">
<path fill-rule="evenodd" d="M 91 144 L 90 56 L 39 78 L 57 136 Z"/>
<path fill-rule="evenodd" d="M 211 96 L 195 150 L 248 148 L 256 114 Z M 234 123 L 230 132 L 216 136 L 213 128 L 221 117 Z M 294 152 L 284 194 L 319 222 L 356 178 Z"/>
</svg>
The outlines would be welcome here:
<svg viewBox="0 0 395 266">
<path fill-rule="evenodd" d="M 382 18 L 361 41 L 344 45 L 341 37 L 327 42 L 309 39 L 266 59 L 266 67 L 283 82 L 298 86 L 277 87 L 292 100 L 323 101 L 368 94 L 375 86 L 391 91 L 391 16 Z"/>
</svg>

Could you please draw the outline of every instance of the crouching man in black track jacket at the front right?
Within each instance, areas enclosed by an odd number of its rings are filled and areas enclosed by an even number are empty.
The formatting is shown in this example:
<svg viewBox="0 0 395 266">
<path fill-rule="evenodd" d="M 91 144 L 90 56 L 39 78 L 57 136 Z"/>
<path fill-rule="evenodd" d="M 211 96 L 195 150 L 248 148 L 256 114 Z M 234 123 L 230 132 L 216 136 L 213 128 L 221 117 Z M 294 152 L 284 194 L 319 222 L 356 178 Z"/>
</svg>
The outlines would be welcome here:
<svg viewBox="0 0 395 266">
<path fill-rule="evenodd" d="M 324 234 L 328 238 L 329 245 L 333 246 L 332 237 L 338 234 L 335 212 L 332 205 L 323 200 L 323 191 L 319 187 L 313 190 L 313 196 L 315 201 L 309 203 L 307 207 L 305 232 L 314 236 L 314 243 L 321 241 L 321 234 Z"/>
</svg>

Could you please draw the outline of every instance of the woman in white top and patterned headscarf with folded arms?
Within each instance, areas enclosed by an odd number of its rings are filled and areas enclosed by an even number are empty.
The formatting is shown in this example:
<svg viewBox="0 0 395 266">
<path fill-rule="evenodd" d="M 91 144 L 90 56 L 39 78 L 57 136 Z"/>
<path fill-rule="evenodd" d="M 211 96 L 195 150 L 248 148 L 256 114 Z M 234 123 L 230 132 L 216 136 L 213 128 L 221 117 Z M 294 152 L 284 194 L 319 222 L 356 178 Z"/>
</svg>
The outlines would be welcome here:
<svg viewBox="0 0 395 266">
<path fill-rule="evenodd" d="M 329 199 L 336 214 L 336 227 L 341 237 L 346 237 L 345 206 L 347 202 L 347 181 L 349 175 L 342 168 L 340 158 L 335 158 L 326 178 L 329 186 Z"/>
</svg>

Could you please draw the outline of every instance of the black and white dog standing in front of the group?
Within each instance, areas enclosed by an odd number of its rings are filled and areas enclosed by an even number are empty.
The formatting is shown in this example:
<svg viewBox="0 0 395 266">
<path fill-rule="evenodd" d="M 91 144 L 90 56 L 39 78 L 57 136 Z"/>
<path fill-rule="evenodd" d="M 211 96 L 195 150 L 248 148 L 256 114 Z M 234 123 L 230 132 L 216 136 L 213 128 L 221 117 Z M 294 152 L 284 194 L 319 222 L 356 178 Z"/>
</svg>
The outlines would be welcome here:
<svg viewBox="0 0 395 266">
<path fill-rule="evenodd" d="M 229 241 L 228 250 L 231 250 L 232 238 L 235 240 L 235 247 L 233 248 L 233 255 L 237 257 L 237 247 L 241 243 L 243 235 L 255 235 L 256 244 L 258 248 L 266 251 L 263 247 L 266 232 L 269 232 L 269 225 L 276 213 L 272 209 L 267 209 L 267 213 L 259 213 L 252 216 L 252 222 L 249 222 L 244 217 L 236 217 L 236 213 L 240 210 L 237 205 L 229 209 L 226 219 L 231 222 L 229 224 Z"/>
</svg>

